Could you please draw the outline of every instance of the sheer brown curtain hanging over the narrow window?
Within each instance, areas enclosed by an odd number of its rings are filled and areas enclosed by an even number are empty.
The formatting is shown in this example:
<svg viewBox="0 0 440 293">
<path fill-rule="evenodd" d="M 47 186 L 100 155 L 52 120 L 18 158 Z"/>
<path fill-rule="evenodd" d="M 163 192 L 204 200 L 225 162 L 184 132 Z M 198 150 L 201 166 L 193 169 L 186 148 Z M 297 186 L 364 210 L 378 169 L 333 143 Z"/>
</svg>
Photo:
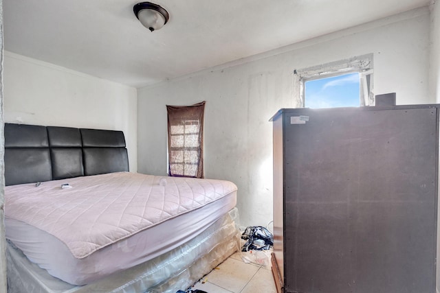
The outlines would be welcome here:
<svg viewBox="0 0 440 293">
<path fill-rule="evenodd" d="M 166 106 L 168 175 L 203 178 L 203 113 L 205 102 Z"/>
</svg>

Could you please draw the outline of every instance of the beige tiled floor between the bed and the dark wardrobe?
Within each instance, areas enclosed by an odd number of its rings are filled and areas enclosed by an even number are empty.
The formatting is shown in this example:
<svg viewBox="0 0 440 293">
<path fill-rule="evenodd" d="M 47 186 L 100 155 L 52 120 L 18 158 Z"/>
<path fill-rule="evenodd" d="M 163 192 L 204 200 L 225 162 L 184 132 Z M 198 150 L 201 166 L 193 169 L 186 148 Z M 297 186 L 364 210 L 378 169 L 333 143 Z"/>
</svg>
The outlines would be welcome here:
<svg viewBox="0 0 440 293">
<path fill-rule="evenodd" d="M 208 293 L 276 293 L 270 268 L 270 253 L 234 253 L 197 282 L 192 290 Z"/>
</svg>

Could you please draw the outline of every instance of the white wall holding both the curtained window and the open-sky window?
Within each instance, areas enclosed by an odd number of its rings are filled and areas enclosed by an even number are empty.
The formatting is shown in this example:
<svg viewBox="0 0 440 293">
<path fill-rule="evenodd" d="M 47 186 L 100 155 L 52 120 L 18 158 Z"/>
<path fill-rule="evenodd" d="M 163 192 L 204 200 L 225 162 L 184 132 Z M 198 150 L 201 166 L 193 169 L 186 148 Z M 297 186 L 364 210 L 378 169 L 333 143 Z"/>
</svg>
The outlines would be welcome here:
<svg viewBox="0 0 440 293">
<path fill-rule="evenodd" d="M 294 69 L 373 53 L 374 90 L 397 104 L 434 103 L 428 95 L 427 8 L 254 56 L 137 92 L 138 169 L 166 174 L 166 104 L 206 100 L 205 175 L 239 187 L 241 225 L 272 220 L 272 124 L 294 104 Z M 292 32 L 294 34 L 295 32 Z"/>
</svg>

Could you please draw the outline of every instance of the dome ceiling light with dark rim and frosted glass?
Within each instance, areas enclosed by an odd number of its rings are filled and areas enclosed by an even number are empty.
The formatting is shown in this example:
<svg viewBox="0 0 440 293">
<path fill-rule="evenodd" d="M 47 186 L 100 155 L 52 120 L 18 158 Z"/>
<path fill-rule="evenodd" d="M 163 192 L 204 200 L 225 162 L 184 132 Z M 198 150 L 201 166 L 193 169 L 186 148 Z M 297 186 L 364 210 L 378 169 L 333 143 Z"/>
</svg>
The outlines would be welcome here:
<svg viewBox="0 0 440 293">
<path fill-rule="evenodd" d="M 141 2 L 133 6 L 133 12 L 144 27 L 153 32 L 168 22 L 170 14 L 164 8 L 151 2 Z"/>
</svg>

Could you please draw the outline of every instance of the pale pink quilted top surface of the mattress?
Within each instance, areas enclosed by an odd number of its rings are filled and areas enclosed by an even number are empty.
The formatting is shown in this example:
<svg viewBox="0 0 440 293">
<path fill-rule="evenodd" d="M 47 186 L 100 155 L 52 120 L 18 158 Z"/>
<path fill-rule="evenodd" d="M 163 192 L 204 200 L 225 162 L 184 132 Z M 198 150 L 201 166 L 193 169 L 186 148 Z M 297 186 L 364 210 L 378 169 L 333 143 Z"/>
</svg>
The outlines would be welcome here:
<svg viewBox="0 0 440 293">
<path fill-rule="evenodd" d="M 236 191 L 230 181 L 116 172 L 5 187 L 5 217 L 54 235 L 81 259 Z M 70 189 L 61 189 L 68 182 Z"/>
</svg>

